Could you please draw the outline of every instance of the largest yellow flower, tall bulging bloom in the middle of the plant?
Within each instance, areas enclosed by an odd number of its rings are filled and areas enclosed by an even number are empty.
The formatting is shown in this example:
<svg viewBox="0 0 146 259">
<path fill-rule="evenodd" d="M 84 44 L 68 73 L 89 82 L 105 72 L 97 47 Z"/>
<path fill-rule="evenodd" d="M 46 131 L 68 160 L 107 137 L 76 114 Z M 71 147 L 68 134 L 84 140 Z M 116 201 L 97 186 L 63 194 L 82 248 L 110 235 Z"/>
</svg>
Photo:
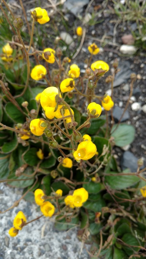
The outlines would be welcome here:
<svg viewBox="0 0 146 259">
<path fill-rule="evenodd" d="M 50 86 L 47 87 L 43 92 L 41 93 L 40 97 L 40 104 L 43 107 L 46 117 L 48 119 L 53 119 L 57 113 L 57 110 L 55 110 L 55 107 L 57 105 L 56 102 L 56 95 L 59 95 L 61 97 L 61 94 L 59 94 L 57 87 Z M 58 106 L 58 108 L 61 109 L 61 105 Z"/>
</svg>

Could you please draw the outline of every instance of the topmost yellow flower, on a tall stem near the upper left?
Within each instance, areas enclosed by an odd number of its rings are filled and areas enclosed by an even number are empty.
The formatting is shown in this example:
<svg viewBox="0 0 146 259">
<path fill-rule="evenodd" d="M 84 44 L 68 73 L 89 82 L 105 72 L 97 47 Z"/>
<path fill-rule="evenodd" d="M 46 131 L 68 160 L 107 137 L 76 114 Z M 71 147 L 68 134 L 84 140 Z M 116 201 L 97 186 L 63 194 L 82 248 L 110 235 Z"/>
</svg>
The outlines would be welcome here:
<svg viewBox="0 0 146 259">
<path fill-rule="evenodd" d="M 33 10 L 32 13 L 33 13 L 33 17 L 34 17 L 35 21 L 39 22 L 40 24 L 44 24 L 44 23 L 50 21 L 50 18 L 49 18 L 48 14 L 47 14 L 47 11 L 45 9 L 41 9 L 40 7 L 36 7 Z"/>
</svg>

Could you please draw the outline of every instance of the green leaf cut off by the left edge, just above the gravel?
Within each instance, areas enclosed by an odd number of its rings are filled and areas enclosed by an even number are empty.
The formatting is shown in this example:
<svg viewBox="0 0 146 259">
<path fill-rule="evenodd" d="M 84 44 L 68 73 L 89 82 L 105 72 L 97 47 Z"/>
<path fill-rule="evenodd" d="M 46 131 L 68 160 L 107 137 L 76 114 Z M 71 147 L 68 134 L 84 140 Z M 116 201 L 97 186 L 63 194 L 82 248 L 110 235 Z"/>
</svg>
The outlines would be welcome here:
<svg viewBox="0 0 146 259">
<path fill-rule="evenodd" d="M 6 179 L 9 174 L 9 155 L 0 154 L 0 179 Z"/>
</svg>

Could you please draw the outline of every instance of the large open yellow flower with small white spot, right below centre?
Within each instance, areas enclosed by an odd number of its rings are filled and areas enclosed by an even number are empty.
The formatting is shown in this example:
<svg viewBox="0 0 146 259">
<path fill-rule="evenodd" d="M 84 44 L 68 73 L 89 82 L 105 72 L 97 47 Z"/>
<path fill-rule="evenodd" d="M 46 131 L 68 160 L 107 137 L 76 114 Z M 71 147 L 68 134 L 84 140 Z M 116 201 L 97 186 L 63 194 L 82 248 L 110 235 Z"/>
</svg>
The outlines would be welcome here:
<svg viewBox="0 0 146 259">
<path fill-rule="evenodd" d="M 88 160 L 96 154 L 96 145 L 92 141 L 82 141 L 73 156 L 75 160 Z"/>
</svg>

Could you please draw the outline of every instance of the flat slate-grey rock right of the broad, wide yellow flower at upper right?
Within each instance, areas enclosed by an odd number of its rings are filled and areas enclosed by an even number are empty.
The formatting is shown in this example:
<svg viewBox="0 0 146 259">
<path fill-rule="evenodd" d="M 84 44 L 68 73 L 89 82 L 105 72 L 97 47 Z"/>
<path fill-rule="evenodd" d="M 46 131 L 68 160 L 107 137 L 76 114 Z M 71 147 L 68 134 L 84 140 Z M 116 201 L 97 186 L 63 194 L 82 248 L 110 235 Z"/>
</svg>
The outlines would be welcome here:
<svg viewBox="0 0 146 259">
<path fill-rule="evenodd" d="M 128 61 L 120 62 L 118 68 L 120 71 L 116 74 L 113 87 L 126 83 L 130 78 L 132 71 L 130 70 L 130 63 Z"/>
</svg>

